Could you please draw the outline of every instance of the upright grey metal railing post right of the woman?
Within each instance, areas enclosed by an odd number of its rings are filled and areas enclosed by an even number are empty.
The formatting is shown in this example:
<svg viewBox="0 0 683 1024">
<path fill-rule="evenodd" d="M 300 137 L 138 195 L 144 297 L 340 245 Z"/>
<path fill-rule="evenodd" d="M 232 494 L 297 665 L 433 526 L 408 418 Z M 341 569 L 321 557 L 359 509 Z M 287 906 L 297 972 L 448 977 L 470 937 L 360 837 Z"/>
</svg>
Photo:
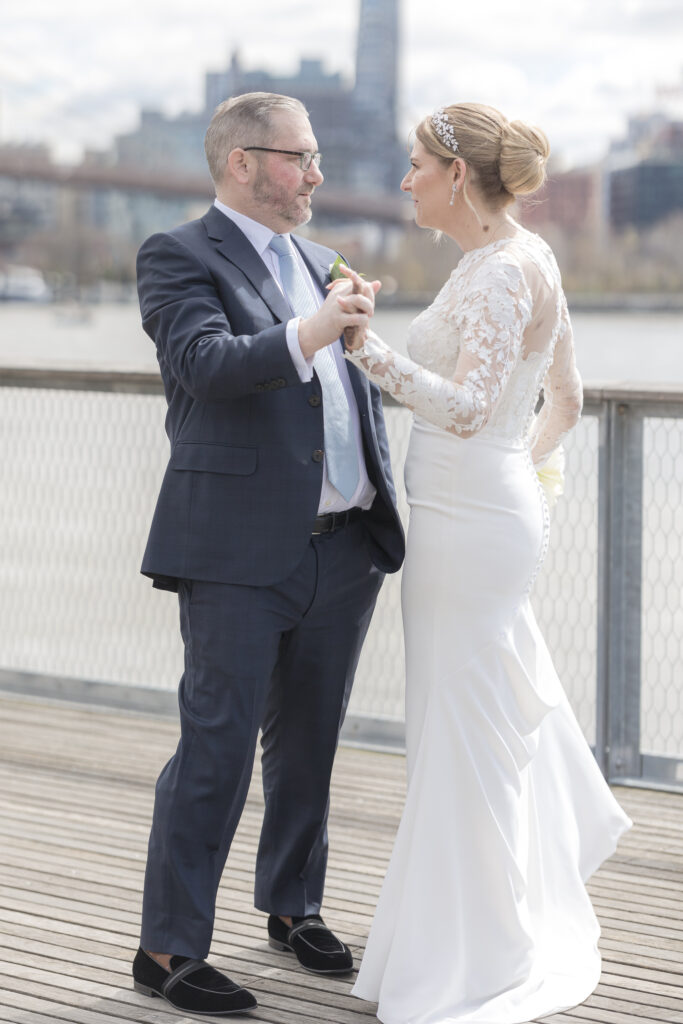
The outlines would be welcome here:
<svg viewBox="0 0 683 1024">
<path fill-rule="evenodd" d="M 610 400 L 600 424 L 597 750 L 607 778 L 639 778 L 643 419 Z"/>
</svg>

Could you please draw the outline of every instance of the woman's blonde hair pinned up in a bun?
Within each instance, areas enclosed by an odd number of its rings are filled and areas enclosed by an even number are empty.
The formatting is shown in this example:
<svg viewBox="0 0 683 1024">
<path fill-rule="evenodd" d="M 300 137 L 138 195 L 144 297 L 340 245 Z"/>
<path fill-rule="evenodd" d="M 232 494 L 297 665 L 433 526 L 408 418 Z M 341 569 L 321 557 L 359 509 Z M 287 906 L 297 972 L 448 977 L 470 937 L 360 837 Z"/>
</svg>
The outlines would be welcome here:
<svg viewBox="0 0 683 1024">
<path fill-rule="evenodd" d="M 444 163 L 461 157 L 492 209 L 500 210 L 518 196 L 530 196 L 544 183 L 550 144 L 540 128 L 508 121 L 483 103 L 454 103 L 442 112 L 453 127 L 457 152 L 439 137 L 431 115 L 418 125 L 417 137 Z"/>
</svg>

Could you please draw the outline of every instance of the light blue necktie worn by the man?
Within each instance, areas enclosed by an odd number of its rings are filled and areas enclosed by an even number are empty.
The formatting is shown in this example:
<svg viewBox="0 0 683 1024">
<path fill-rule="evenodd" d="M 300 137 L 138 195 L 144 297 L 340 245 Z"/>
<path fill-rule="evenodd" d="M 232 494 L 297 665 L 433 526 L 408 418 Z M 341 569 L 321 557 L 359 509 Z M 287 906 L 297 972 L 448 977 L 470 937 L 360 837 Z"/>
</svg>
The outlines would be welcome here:
<svg viewBox="0 0 683 1024">
<path fill-rule="evenodd" d="M 286 234 L 273 234 L 270 249 L 280 259 L 280 278 L 292 312 L 295 316 L 312 316 L 317 305 L 304 281 L 289 238 Z M 313 367 L 323 388 L 328 479 L 348 502 L 358 485 L 358 452 L 346 392 L 329 345 L 315 352 Z"/>
</svg>

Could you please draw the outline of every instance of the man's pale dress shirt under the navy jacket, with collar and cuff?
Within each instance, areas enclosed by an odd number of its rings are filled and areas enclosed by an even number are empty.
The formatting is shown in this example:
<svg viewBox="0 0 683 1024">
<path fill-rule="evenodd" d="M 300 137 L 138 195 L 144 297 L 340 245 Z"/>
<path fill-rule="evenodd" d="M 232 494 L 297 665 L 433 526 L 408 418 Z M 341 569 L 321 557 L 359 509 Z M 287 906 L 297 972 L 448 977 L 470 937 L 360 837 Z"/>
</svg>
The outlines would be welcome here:
<svg viewBox="0 0 683 1024">
<path fill-rule="evenodd" d="M 251 217 L 247 217 L 244 213 L 239 213 L 237 210 L 230 209 L 229 206 L 225 206 L 220 200 L 215 200 L 214 205 L 222 214 L 228 217 L 243 234 L 246 234 L 249 242 L 252 244 L 258 255 L 261 257 L 268 270 L 275 280 L 278 287 L 280 288 L 283 295 L 285 295 L 285 290 L 283 289 L 282 282 L 280 280 L 280 259 L 278 254 L 269 249 L 270 240 L 275 233 L 271 228 L 266 227 L 265 224 L 259 223 L 258 220 L 253 220 Z M 312 280 L 308 267 L 301 258 L 301 254 L 295 245 L 292 245 L 294 250 L 294 255 L 299 263 L 299 268 L 303 274 L 304 281 L 311 295 L 315 300 L 316 306 L 322 306 L 324 302 L 324 296 L 321 294 L 319 290 L 315 286 Z M 287 298 L 287 296 L 285 296 Z M 293 316 L 292 319 L 287 323 L 287 347 L 289 349 L 290 355 L 294 367 L 299 375 L 300 380 L 305 384 L 311 380 L 313 376 L 313 360 L 312 358 L 305 358 L 303 352 L 301 351 L 301 346 L 299 345 L 299 323 L 301 321 L 300 316 Z M 356 452 L 358 455 L 358 485 L 355 492 L 351 496 L 349 501 L 346 501 L 342 495 L 339 494 L 336 487 L 334 487 L 330 480 L 328 479 L 328 470 L 325 460 L 323 461 L 323 489 L 321 492 L 321 501 L 318 506 L 318 513 L 326 512 L 343 512 L 350 508 L 362 508 L 369 509 L 373 504 L 373 500 L 376 495 L 376 489 L 370 482 L 368 477 L 368 470 L 366 468 L 366 460 L 362 454 L 362 437 L 360 433 L 360 418 L 358 416 L 358 407 L 355 400 L 355 395 L 353 394 L 353 388 L 351 387 L 351 382 L 348 376 L 348 367 L 346 366 L 346 360 L 344 359 L 344 354 L 342 351 L 342 346 L 340 341 L 335 341 L 333 345 L 330 346 L 332 353 L 334 355 L 335 364 L 337 366 L 337 373 L 339 374 L 339 379 L 341 380 L 346 398 L 348 401 L 349 415 L 351 417 L 351 422 L 353 425 L 353 434 L 355 437 Z"/>
</svg>

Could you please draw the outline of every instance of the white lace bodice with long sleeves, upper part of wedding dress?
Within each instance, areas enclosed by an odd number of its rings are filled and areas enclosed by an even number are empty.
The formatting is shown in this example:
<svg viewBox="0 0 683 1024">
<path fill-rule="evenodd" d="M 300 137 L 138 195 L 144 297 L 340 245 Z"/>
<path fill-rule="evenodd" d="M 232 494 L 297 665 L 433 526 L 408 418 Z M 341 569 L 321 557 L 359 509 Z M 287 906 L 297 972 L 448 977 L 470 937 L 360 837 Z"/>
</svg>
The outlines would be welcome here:
<svg viewBox="0 0 683 1024">
<path fill-rule="evenodd" d="M 346 357 L 434 426 L 461 437 L 528 440 L 537 465 L 579 419 L 581 378 L 557 263 L 521 227 L 465 253 L 413 321 L 408 350 L 410 357 L 400 355 L 369 332 Z"/>
</svg>

